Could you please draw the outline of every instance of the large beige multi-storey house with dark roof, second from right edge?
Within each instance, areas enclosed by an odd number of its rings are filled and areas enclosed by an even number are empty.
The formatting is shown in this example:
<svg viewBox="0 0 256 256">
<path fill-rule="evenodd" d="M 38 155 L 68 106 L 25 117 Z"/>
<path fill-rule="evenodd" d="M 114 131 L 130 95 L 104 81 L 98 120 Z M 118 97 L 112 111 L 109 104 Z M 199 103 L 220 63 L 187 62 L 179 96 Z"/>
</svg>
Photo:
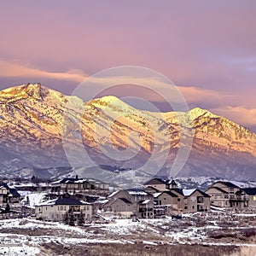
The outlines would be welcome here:
<svg viewBox="0 0 256 256">
<path fill-rule="evenodd" d="M 247 207 L 246 197 L 236 196 L 240 188 L 234 183 L 218 181 L 207 189 L 206 193 L 211 195 L 211 204 L 216 207 Z M 242 200 L 241 200 L 242 199 Z"/>
</svg>

